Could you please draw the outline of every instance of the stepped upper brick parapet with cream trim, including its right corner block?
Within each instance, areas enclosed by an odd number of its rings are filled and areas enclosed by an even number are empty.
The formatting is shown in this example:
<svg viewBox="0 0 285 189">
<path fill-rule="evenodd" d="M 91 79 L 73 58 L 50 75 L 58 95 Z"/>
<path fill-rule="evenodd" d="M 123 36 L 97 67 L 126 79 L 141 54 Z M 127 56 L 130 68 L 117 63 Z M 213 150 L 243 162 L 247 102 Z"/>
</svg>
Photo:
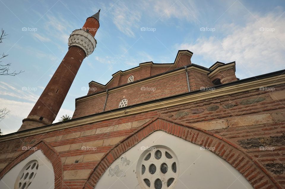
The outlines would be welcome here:
<svg viewBox="0 0 285 189">
<path fill-rule="evenodd" d="M 191 63 L 193 53 L 188 50 L 179 50 L 174 63 L 158 64 L 153 62 L 140 63 L 139 66 L 125 71 L 117 71 L 113 78 L 106 85 L 91 81 L 90 90 L 87 95 L 101 92 L 103 90 L 115 88 L 121 85 L 156 76 L 167 71 L 175 70 L 184 66 L 193 65 L 187 68 L 189 71 L 190 90 L 199 90 L 201 80 L 203 85 L 213 86 L 238 80 L 235 76 L 235 62 L 216 62 L 210 68 L 205 68 Z M 194 70 L 195 71 L 194 71 Z M 205 86 L 204 86 L 205 87 Z"/>
</svg>

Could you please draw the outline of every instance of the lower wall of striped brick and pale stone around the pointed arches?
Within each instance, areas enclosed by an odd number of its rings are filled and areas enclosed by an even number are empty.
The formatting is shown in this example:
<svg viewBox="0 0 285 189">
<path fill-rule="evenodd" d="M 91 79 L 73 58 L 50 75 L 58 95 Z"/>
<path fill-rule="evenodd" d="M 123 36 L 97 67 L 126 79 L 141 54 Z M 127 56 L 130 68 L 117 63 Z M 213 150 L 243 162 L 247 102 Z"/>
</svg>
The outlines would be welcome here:
<svg viewBox="0 0 285 189">
<path fill-rule="evenodd" d="M 18 156 L 22 146 L 33 146 L 45 140 L 61 157 L 65 172 L 63 188 L 82 188 L 88 175 L 107 151 L 132 135 L 146 121 L 159 116 L 170 122 L 173 120 L 182 125 L 208 130 L 210 135 L 236 146 L 261 168 L 254 169 L 245 161 L 240 164 L 243 167 L 238 169 L 254 183 L 255 188 L 285 188 L 285 96 L 282 95 L 285 85 L 272 87 L 275 89 L 273 92 L 259 89 L 245 91 L 0 142 L 0 168 L 3 169 L 4 165 Z M 207 138 L 199 141 L 201 145 L 210 143 Z M 81 146 L 88 143 L 97 149 L 81 150 Z M 259 146 L 274 147 L 274 150 L 263 150 Z M 230 163 L 243 161 L 239 159 L 239 154 L 231 154 L 227 146 L 221 145 L 219 150 L 219 155 Z M 98 156 L 97 159 L 88 159 L 88 156 L 94 154 Z M 264 180 L 261 170 L 273 181 Z M 277 186 L 272 184 L 274 182 Z"/>
</svg>

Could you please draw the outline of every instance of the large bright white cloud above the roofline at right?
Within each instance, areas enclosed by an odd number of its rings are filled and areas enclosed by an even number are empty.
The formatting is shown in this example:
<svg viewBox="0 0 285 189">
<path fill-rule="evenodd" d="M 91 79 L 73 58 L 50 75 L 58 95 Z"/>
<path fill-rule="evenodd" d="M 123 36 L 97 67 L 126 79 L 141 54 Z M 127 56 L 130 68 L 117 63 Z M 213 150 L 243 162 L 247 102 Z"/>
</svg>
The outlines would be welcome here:
<svg viewBox="0 0 285 189">
<path fill-rule="evenodd" d="M 281 70 L 284 69 L 285 59 L 285 19 L 278 18 L 281 14 L 269 13 L 264 17 L 254 15 L 258 21 L 251 19 L 243 27 L 225 24 L 221 30 L 226 28 L 227 35 L 223 38 L 216 38 L 214 32 L 209 38 L 177 44 L 176 48 L 189 49 L 211 64 L 216 61 L 236 61 L 236 74 L 241 79 Z M 263 29 L 274 31 L 260 31 Z"/>
</svg>

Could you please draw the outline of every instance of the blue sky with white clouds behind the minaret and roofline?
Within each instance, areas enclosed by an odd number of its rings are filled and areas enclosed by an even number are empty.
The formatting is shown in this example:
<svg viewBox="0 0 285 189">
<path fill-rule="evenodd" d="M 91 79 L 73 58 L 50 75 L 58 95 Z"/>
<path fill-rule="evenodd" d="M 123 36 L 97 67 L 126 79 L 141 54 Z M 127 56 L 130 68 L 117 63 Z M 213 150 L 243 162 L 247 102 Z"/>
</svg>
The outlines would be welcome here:
<svg viewBox="0 0 285 189">
<path fill-rule="evenodd" d="M 66 54 L 69 35 L 99 9 L 96 49 L 54 123 L 73 115 L 90 81 L 105 85 L 143 62 L 173 63 L 178 50 L 193 52 L 191 62 L 208 68 L 235 61 L 240 79 L 285 69 L 283 0 L 0 0 L 0 27 L 8 34 L 0 53 L 9 54 L 0 64 L 24 71 L 0 76 L 0 109 L 10 110 L 0 122 L 3 134 L 20 128 Z"/>
</svg>

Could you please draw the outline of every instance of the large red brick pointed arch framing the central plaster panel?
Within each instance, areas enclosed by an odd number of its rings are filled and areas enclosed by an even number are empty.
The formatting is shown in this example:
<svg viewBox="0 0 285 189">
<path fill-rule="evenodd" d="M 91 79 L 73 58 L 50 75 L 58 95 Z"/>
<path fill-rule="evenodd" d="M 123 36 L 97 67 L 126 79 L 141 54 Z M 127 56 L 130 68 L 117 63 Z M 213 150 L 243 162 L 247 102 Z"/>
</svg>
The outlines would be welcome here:
<svg viewBox="0 0 285 189">
<path fill-rule="evenodd" d="M 253 161 L 237 145 L 211 132 L 164 118 L 154 118 L 110 149 L 95 166 L 83 188 L 93 189 L 100 177 L 116 159 L 158 130 L 199 146 L 214 147 L 212 152 L 238 170 L 254 188 L 282 188 L 258 162 Z"/>
</svg>

